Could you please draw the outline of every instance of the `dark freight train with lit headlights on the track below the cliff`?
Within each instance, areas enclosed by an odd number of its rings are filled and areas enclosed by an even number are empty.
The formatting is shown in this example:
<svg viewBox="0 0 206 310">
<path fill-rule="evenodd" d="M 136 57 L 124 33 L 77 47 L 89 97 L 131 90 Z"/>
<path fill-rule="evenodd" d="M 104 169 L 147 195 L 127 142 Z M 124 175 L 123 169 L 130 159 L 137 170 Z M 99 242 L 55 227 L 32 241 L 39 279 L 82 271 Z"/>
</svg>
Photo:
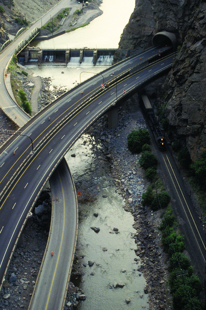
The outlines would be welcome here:
<svg viewBox="0 0 206 310">
<path fill-rule="evenodd" d="M 157 146 L 160 151 L 166 150 L 166 139 L 163 135 L 163 131 L 159 127 L 159 122 L 157 122 L 155 114 L 153 113 L 152 106 L 150 104 L 150 100 L 148 99 L 146 94 L 140 94 L 140 100 L 143 106 L 143 109 L 146 113 L 147 119 L 150 124 L 150 128 L 153 131 L 153 134 L 155 136 L 155 140 L 157 143 Z"/>
</svg>

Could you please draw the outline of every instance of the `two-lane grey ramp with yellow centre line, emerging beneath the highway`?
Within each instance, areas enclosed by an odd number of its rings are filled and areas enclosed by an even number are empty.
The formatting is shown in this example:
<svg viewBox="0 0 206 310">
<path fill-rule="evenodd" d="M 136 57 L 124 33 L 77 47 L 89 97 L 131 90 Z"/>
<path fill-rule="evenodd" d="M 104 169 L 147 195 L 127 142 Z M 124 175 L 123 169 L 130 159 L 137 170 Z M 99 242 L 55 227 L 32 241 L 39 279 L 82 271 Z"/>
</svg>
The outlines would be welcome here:
<svg viewBox="0 0 206 310">
<path fill-rule="evenodd" d="M 30 310 L 64 308 L 76 246 L 77 198 L 65 159 L 60 162 L 49 182 L 52 191 L 52 221 L 47 247 L 29 304 Z"/>
</svg>

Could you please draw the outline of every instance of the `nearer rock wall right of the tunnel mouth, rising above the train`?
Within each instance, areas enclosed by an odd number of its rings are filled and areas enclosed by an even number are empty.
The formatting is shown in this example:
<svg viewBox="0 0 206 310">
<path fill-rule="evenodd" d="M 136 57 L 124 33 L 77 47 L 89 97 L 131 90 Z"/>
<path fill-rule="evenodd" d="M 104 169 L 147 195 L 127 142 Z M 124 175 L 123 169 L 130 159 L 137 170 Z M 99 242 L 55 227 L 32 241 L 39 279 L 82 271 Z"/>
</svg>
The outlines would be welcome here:
<svg viewBox="0 0 206 310">
<path fill-rule="evenodd" d="M 173 138 L 186 142 L 195 161 L 206 149 L 206 4 L 194 11 L 163 89 Z"/>
</svg>

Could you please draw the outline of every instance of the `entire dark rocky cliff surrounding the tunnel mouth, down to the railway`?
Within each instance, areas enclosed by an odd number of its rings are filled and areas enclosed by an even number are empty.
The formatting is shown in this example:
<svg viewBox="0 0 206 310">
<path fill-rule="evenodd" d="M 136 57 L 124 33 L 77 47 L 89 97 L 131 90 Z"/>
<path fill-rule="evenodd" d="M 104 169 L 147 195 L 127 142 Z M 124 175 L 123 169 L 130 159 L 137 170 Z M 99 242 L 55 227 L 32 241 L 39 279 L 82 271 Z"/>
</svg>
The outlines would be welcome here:
<svg viewBox="0 0 206 310">
<path fill-rule="evenodd" d="M 187 146 L 193 161 L 206 148 L 205 29 L 206 4 L 201 0 L 136 0 L 114 56 L 118 61 L 129 49 L 151 46 L 160 31 L 176 34 L 181 50 L 162 88 L 165 116 L 173 139 Z"/>
</svg>

